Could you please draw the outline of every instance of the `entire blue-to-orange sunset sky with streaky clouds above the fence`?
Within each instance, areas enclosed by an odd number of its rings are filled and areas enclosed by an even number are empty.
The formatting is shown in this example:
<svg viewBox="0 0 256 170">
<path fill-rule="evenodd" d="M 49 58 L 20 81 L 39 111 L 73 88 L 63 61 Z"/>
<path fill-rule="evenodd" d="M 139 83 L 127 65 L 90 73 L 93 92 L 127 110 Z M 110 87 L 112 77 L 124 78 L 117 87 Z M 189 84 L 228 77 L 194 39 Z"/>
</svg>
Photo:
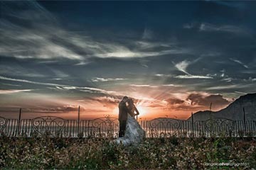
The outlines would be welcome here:
<svg viewBox="0 0 256 170">
<path fill-rule="evenodd" d="M 0 1 L 0 116 L 188 118 L 256 91 L 256 1 Z"/>
</svg>

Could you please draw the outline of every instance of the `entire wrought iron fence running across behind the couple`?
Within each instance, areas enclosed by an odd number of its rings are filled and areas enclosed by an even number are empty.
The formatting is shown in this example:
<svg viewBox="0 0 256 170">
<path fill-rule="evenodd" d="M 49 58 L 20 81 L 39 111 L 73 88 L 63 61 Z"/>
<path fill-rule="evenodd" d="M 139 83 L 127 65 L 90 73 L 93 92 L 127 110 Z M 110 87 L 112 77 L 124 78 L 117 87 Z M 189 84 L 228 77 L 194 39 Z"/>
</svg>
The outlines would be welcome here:
<svg viewBox="0 0 256 170">
<path fill-rule="evenodd" d="M 205 121 L 156 118 L 140 120 L 146 137 L 256 137 L 256 120 L 210 118 Z M 55 116 L 32 119 L 0 117 L 0 135 L 9 137 L 118 137 L 117 118 L 67 120 Z"/>
</svg>

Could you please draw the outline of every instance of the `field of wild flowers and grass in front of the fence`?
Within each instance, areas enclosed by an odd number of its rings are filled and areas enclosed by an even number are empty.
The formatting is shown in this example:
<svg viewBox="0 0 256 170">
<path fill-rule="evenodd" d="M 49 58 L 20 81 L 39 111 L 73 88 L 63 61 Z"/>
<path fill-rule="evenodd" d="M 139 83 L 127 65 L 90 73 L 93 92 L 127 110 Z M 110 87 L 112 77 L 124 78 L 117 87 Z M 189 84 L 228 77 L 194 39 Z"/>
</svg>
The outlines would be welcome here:
<svg viewBox="0 0 256 170">
<path fill-rule="evenodd" d="M 228 169 L 231 167 L 256 168 L 255 140 L 171 137 L 146 139 L 137 147 L 124 147 L 113 144 L 111 139 L 0 137 L 0 169 Z"/>
</svg>

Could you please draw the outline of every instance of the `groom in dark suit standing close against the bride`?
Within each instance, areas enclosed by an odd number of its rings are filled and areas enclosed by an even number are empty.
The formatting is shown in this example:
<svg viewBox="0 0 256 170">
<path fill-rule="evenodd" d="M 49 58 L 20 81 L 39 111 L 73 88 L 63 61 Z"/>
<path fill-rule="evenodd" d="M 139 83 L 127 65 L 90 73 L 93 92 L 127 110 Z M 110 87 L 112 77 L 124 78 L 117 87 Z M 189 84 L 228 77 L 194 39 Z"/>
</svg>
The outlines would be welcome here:
<svg viewBox="0 0 256 170">
<path fill-rule="evenodd" d="M 127 124 L 127 115 L 129 113 L 129 109 L 126 106 L 126 103 L 128 101 L 128 97 L 124 96 L 122 98 L 122 101 L 119 103 L 119 137 L 123 137 L 126 129 L 126 124 Z"/>
</svg>

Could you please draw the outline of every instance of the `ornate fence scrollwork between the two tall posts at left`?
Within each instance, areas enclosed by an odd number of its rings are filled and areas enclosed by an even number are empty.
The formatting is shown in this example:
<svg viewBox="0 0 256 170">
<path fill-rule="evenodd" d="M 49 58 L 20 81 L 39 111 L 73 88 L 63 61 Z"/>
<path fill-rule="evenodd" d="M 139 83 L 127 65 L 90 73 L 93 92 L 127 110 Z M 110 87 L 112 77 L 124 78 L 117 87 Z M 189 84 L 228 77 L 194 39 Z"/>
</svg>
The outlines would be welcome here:
<svg viewBox="0 0 256 170">
<path fill-rule="evenodd" d="M 33 130 L 38 132 L 38 134 L 50 134 L 57 135 L 62 132 L 65 128 L 66 120 L 63 118 L 58 118 L 55 116 L 42 116 L 39 118 L 33 118 L 31 124 Z"/>
</svg>

